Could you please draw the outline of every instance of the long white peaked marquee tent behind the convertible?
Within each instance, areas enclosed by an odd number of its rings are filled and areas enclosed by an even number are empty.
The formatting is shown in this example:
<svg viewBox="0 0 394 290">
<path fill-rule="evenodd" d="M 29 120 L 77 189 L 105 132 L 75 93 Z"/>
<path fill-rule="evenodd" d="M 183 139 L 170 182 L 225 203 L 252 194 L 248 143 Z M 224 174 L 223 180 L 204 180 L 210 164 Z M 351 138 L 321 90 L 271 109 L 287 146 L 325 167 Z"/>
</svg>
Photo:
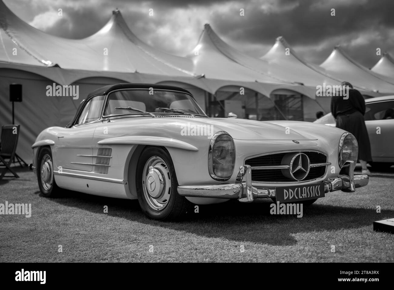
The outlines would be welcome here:
<svg viewBox="0 0 394 290">
<path fill-rule="evenodd" d="M 342 54 L 330 56 L 318 67 L 303 61 L 291 48 L 290 55 L 285 55 L 288 47 L 283 38 L 278 38 L 261 59 L 252 58 L 227 45 L 206 24 L 195 49 L 186 57 L 174 56 L 141 41 L 119 10 L 113 11 L 97 33 L 85 39 L 65 39 L 33 28 L 0 0 L 0 125 L 11 123 L 11 83 L 23 85 L 23 102 L 15 103 L 15 123 L 21 125 L 17 152 L 26 161 L 30 160 L 30 146 L 41 130 L 66 125 L 79 102 L 106 84 L 181 86 L 190 90 L 203 108 L 220 98 L 244 98 L 249 106 L 256 104 L 257 116 L 258 110 L 263 115 L 271 108 L 280 111 L 275 96 L 286 100 L 286 95 L 294 93 L 302 96 L 304 111 L 313 115 L 316 110 L 327 108 L 329 102 L 316 98 L 316 86 L 323 82 L 338 84 L 343 79 L 352 82 L 351 77 L 355 78 L 355 86 L 370 96 L 394 93 L 394 85 L 387 82 L 392 76 L 381 69 L 377 74 L 365 71 L 346 57 L 338 61 Z M 384 76 L 379 78 L 381 75 Z M 53 83 L 78 85 L 80 98 L 48 97 L 46 86 Z M 249 91 L 247 97 L 239 94 L 241 87 Z M 281 114 L 288 116 L 288 112 Z"/>
</svg>

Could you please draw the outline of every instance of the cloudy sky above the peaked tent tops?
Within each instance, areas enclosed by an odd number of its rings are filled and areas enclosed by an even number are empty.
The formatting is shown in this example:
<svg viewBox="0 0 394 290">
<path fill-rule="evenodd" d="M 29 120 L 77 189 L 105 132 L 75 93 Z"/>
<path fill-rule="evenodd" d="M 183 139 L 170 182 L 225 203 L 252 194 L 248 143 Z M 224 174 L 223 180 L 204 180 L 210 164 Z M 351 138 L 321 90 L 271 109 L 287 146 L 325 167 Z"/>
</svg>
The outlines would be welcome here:
<svg viewBox="0 0 394 290">
<path fill-rule="evenodd" d="M 366 67 L 394 54 L 393 0 L 4 0 L 21 19 L 47 33 L 80 39 L 97 32 L 119 8 L 146 43 L 184 56 L 205 23 L 254 57 L 282 35 L 299 56 L 320 64 L 335 45 Z M 63 16 L 58 17 L 58 9 Z M 153 9 L 153 16 L 149 15 Z M 244 9 L 244 16 L 240 15 Z M 335 16 L 331 16 L 335 9 Z"/>
</svg>

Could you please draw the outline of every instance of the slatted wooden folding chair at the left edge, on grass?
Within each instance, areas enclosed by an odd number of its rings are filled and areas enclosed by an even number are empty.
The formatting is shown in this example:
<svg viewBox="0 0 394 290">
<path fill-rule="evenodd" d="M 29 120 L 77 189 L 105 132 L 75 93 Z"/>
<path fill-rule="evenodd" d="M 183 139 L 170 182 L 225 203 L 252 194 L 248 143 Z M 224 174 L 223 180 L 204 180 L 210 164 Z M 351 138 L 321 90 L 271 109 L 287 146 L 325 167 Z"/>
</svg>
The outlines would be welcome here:
<svg viewBox="0 0 394 290">
<path fill-rule="evenodd" d="M 5 167 L 0 180 L 3 177 L 11 177 L 6 175 L 7 171 L 10 171 L 14 177 L 19 177 L 17 173 L 11 168 L 13 163 L 15 151 L 17 151 L 18 137 L 19 137 L 19 126 L 20 125 L 6 125 L 2 126 L 1 129 L 1 147 L 0 147 L 0 166 Z M 7 161 L 6 161 L 7 160 Z M 4 165 L 2 165 L 4 164 Z"/>
</svg>

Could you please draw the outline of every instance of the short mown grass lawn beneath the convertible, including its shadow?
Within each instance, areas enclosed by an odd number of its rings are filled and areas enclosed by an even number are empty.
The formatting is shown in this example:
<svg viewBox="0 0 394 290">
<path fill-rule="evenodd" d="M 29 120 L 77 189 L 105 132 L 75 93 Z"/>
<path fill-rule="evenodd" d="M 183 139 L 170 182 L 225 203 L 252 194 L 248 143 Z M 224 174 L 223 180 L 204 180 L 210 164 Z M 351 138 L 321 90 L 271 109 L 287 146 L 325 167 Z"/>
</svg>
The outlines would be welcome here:
<svg viewBox="0 0 394 290">
<path fill-rule="evenodd" d="M 270 200 L 230 201 L 172 223 L 147 219 L 136 200 L 47 199 L 20 171 L 0 181 L 0 203 L 31 203 L 32 216 L 0 215 L 0 262 L 393 262 L 394 235 L 372 229 L 394 217 L 393 187 L 392 168 L 356 193 L 327 193 L 302 218 L 271 215 Z"/>
</svg>

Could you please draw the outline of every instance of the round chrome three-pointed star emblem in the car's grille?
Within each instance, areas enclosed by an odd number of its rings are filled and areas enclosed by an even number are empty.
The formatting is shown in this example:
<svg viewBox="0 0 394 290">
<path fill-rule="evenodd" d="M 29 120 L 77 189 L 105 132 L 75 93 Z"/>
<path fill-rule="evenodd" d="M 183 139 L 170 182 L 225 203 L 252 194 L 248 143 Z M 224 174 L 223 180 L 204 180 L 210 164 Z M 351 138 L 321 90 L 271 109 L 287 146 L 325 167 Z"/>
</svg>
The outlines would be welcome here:
<svg viewBox="0 0 394 290">
<path fill-rule="evenodd" d="M 308 176 L 310 170 L 310 160 L 307 154 L 302 152 L 287 153 L 282 158 L 282 165 L 289 168 L 282 169 L 282 173 L 287 178 L 300 181 Z"/>
</svg>

